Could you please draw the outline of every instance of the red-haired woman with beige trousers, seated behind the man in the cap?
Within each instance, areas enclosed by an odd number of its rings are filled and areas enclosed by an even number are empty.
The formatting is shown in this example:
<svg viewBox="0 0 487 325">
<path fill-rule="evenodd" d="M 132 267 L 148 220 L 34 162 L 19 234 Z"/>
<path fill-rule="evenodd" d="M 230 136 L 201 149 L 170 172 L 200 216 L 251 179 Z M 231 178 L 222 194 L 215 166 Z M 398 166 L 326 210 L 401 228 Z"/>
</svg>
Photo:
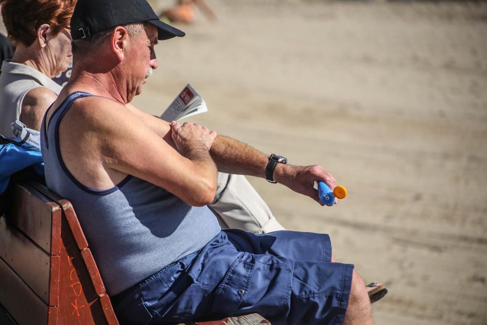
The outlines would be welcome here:
<svg viewBox="0 0 487 325">
<path fill-rule="evenodd" d="M 13 136 L 10 123 L 17 119 L 40 130 L 44 113 L 71 76 L 68 31 L 76 1 L 0 1 L 7 31 L 19 43 L 14 57 L 3 62 L 0 76 L 0 134 Z M 224 229 L 284 229 L 243 175 L 218 173 L 218 190 L 208 208 Z"/>
</svg>

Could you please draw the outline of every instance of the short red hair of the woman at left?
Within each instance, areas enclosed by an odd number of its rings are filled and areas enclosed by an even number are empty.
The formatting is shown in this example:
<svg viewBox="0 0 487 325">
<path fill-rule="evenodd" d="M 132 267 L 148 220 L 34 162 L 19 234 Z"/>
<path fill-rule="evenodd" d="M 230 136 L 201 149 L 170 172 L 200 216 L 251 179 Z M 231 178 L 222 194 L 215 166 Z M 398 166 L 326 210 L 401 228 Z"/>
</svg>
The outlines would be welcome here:
<svg viewBox="0 0 487 325">
<path fill-rule="evenodd" d="M 30 46 L 42 24 L 56 36 L 70 24 L 76 0 L 0 0 L 1 15 L 8 38 Z"/>
</svg>

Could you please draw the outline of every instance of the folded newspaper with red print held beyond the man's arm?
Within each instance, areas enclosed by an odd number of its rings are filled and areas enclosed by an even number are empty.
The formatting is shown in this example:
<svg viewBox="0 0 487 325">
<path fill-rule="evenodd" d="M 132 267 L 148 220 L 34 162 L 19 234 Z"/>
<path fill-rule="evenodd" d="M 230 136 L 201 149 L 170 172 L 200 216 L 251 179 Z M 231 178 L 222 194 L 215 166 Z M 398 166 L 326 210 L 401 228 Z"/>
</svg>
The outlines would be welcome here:
<svg viewBox="0 0 487 325">
<path fill-rule="evenodd" d="M 190 84 L 187 84 L 160 117 L 170 122 L 207 111 L 205 100 Z"/>
</svg>

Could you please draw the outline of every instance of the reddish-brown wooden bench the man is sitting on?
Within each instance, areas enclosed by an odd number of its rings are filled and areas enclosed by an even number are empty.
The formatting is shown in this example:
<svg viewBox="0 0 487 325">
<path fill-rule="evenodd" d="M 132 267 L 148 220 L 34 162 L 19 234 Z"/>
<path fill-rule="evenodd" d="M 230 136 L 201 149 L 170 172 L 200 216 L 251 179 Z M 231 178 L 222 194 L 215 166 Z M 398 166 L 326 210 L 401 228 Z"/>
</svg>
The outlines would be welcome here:
<svg viewBox="0 0 487 325">
<path fill-rule="evenodd" d="M 118 324 L 75 210 L 37 182 L 14 185 L 0 217 L 0 324 Z M 250 314 L 186 324 L 270 323 Z"/>
</svg>

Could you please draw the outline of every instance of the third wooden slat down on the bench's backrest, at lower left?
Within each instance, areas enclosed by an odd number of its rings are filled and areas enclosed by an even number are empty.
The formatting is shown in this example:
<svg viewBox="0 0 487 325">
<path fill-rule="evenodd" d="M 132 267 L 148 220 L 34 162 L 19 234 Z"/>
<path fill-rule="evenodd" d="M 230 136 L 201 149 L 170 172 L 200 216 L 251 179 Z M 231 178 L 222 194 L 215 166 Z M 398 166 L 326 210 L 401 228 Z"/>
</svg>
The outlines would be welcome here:
<svg viewBox="0 0 487 325">
<path fill-rule="evenodd" d="M 19 325 L 47 324 L 48 306 L 0 259 L 0 301 Z M 28 306 L 26 308 L 26 306 Z"/>
</svg>

